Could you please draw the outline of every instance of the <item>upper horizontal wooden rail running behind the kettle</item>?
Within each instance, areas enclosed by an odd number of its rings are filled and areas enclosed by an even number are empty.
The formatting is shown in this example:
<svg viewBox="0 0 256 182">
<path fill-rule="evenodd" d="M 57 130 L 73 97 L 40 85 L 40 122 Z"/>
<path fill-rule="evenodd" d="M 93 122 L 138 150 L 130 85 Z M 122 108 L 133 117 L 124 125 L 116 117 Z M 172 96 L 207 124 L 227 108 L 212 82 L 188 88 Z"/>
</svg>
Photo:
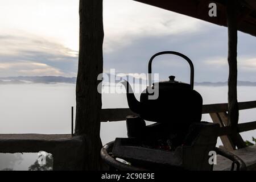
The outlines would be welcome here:
<svg viewBox="0 0 256 182">
<path fill-rule="evenodd" d="M 256 107 L 256 101 L 239 102 L 239 109 L 253 109 Z M 207 104 L 203 105 L 203 114 L 208 113 L 221 113 L 228 111 L 228 104 Z M 138 115 L 133 113 L 129 108 L 118 109 L 102 109 L 101 122 L 107 121 L 124 121 L 127 115 Z"/>
</svg>

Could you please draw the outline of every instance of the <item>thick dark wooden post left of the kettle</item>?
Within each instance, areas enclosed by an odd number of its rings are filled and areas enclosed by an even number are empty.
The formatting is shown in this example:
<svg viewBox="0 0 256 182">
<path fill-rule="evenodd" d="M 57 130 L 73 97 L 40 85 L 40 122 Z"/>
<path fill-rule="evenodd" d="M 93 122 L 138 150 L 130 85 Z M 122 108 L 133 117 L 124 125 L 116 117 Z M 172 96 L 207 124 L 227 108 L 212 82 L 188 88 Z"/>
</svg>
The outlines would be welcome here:
<svg viewBox="0 0 256 182">
<path fill-rule="evenodd" d="M 76 83 L 75 134 L 85 136 L 85 170 L 100 166 L 101 94 L 97 77 L 103 71 L 102 0 L 80 0 L 79 68 Z"/>
</svg>

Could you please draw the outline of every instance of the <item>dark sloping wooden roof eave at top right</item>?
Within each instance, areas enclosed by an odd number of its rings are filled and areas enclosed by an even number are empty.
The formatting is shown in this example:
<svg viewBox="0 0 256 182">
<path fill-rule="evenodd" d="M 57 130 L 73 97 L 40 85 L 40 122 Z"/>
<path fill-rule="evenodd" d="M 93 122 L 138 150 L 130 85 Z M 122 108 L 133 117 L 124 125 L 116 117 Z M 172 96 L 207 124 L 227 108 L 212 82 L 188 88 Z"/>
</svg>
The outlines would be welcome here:
<svg viewBox="0 0 256 182">
<path fill-rule="evenodd" d="M 159 7 L 175 13 L 191 16 L 193 18 L 205 20 L 220 26 L 227 26 L 226 23 L 226 4 L 224 0 L 134 0 L 147 5 Z M 209 3 L 214 2 L 217 5 L 217 16 L 210 17 Z M 256 1 L 243 0 L 238 15 L 238 30 L 256 36 Z"/>
</svg>

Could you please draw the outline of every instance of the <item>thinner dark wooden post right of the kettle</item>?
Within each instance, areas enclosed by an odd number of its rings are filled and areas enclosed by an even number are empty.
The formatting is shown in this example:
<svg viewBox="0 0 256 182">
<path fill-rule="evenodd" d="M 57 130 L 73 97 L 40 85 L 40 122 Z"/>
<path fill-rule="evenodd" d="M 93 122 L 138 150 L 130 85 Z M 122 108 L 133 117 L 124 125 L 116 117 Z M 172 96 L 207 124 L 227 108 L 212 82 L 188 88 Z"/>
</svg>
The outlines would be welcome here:
<svg viewBox="0 0 256 182">
<path fill-rule="evenodd" d="M 241 136 L 237 133 L 239 109 L 237 102 L 237 13 L 238 0 L 227 0 L 228 26 L 228 124 L 233 128 L 232 139 L 238 148 L 245 146 Z"/>
</svg>

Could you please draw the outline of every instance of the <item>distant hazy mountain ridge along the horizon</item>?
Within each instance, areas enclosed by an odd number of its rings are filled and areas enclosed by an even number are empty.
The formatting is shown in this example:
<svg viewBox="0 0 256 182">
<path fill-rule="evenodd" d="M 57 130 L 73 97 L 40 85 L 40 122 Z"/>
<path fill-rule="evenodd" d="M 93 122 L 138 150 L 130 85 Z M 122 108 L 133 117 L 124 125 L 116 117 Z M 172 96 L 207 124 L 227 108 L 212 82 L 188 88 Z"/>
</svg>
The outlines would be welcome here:
<svg viewBox="0 0 256 182">
<path fill-rule="evenodd" d="M 137 78 L 135 78 L 137 79 Z M 119 81 L 116 81 L 119 82 Z M 76 77 L 63 76 L 17 76 L 17 77 L 0 77 L 0 84 L 55 84 L 69 83 L 75 84 Z M 195 82 L 196 86 L 227 86 L 228 82 Z M 256 86 L 256 82 L 238 81 L 238 86 Z"/>
</svg>

